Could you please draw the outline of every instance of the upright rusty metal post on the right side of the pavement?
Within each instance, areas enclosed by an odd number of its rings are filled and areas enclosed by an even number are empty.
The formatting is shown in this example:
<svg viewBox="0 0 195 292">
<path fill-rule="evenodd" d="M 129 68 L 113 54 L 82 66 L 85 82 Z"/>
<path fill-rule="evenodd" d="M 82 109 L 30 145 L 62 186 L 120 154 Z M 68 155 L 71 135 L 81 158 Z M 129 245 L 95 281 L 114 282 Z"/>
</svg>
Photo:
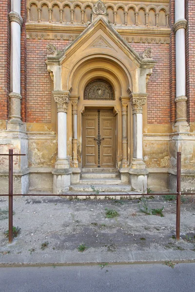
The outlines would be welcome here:
<svg viewBox="0 0 195 292">
<path fill-rule="evenodd" d="M 180 240 L 180 207 L 181 207 L 181 152 L 177 152 L 177 186 L 176 186 L 176 241 Z"/>
</svg>

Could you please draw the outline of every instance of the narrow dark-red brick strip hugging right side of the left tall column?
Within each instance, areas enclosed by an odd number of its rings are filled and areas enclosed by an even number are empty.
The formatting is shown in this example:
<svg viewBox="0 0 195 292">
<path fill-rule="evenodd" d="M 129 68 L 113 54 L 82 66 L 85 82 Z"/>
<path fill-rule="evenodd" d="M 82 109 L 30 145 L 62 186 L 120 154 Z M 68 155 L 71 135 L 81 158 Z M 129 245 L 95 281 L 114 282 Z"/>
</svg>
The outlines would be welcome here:
<svg viewBox="0 0 195 292">
<path fill-rule="evenodd" d="M 21 28 L 21 118 L 26 122 L 26 0 L 21 1 L 21 17 L 23 19 Z"/>
</svg>

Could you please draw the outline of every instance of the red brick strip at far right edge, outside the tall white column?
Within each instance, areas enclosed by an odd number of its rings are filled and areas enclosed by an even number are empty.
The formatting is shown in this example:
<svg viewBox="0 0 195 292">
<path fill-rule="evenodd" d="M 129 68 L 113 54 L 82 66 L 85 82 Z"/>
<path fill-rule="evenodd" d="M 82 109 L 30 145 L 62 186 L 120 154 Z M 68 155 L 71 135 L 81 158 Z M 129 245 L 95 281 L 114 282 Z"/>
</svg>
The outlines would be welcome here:
<svg viewBox="0 0 195 292">
<path fill-rule="evenodd" d="M 186 0 L 186 95 L 188 121 L 195 122 L 195 1 Z"/>
</svg>

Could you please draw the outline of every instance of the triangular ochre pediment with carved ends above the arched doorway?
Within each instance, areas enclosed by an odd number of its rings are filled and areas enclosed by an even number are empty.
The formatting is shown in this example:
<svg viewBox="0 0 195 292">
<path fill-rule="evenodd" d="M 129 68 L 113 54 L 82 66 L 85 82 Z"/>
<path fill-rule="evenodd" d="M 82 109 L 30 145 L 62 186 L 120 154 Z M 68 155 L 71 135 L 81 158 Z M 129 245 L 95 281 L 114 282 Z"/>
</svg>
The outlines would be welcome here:
<svg viewBox="0 0 195 292">
<path fill-rule="evenodd" d="M 48 45 L 52 46 L 52 45 Z M 54 46 L 53 46 L 54 47 Z M 56 48 L 47 55 L 46 63 L 62 64 L 75 53 L 83 55 L 90 49 L 90 54 L 99 50 L 115 50 L 117 55 L 125 54 L 137 67 L 153 68 L 155 61 L 151 58 L 142 58 L 128 43 L 117 33 L 117 31 L 105 20 L 99 16 L 63 51 Z M 94 50 L 94 51 L 93 51 Z M 86 53 L 87 54 L 87 53 Z M 109 54 L 109 53 L 108 53 Z"/>
</svg>

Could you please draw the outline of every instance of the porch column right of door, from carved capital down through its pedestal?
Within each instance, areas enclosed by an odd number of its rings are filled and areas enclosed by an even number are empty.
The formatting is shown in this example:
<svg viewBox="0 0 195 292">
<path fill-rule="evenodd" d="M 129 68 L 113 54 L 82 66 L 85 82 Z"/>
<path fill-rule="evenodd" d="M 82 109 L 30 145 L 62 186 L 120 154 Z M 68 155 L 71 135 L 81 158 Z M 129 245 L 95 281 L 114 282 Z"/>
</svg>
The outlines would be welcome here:
<svg viewBox="0 0 195 292">
<path fill-rule="evenodd" d="M 147 93 L 131 93 L 130 101 L 133 113 L 133 160 L 129 173 L 132 188 L 147 193 L 148 171 L 143 162 L 142 110 L 146 103 Z"/>
</svg>

